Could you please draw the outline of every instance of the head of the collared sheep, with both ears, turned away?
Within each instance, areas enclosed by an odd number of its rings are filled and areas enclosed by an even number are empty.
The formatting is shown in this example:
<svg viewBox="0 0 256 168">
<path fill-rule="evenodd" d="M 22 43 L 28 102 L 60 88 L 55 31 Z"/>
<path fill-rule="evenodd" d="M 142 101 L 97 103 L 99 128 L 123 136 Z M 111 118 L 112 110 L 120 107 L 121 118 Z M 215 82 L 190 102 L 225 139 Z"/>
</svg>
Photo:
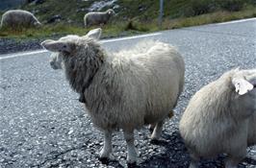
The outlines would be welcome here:
<svg viewBox="0 0 256 168">
<path fill-rule="evenodd" d="M 98 40 L 101 36 L 101 29 L 91 30 L 86 36 L 64 36 L 59 40 L 47 39 L 41 45 L 51 52 L 50 65 L 53 69 L 63 69 L 64 57 L 75 57 L 77 51 L 89 53 L 90 41 Z"/>
</svg>

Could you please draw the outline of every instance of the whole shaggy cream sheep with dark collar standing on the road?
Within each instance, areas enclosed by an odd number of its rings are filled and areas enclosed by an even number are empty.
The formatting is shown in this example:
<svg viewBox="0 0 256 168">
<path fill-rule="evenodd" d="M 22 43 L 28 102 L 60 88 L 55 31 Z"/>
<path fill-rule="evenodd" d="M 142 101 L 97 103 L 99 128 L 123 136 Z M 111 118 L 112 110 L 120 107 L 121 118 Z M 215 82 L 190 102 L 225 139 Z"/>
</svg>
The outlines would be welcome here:
<svg viewBox="0 0 256 168">
<path fill-rule="evenodd" d="M 98 29 L 94 36 L 100 33 Z M 180 54 L 166 43 L 153 41 L 111 54 L 92 35 L 48 39 L 41 45 L 59 52 L 67 81 L 84 92 L 91 121 L 105 134 L 100 158 L 110 156 L 112 133 L 121 129 L 127 161 L 136 162 L 134 130 L 155 124 L 151 138 L 158 139 L 182 92 L 185 65 Z"/>
</svg>

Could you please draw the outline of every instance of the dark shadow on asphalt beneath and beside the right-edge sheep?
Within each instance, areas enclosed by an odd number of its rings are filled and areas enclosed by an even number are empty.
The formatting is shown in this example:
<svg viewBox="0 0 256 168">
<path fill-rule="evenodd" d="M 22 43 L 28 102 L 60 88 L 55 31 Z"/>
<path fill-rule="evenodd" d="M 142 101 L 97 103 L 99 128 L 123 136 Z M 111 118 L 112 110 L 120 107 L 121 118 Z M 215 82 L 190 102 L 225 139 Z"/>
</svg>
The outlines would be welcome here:
<svg viewBox="0 0 256 168">
<path fill-rule="evenodd" d="M 171 167 L 186 168 L 191 162 L 188 150 L 178 131 L 171 134 L 163 133 L 163 140 L 151 141 L 155 145 L 164 147 L 165 151 L 157 156 L 150 156 L 140 163 L 140 167 Z M 224 167 L 224 155 L 219 155 L 213 159 L 201 159 L 199 168 L 222 168 Z M 239 164 L 239 168 L 245 168 L 245 164 L 256 165 L 256 160 L 252 158 L 244 158 L 243 163 Z"/>
</svg>

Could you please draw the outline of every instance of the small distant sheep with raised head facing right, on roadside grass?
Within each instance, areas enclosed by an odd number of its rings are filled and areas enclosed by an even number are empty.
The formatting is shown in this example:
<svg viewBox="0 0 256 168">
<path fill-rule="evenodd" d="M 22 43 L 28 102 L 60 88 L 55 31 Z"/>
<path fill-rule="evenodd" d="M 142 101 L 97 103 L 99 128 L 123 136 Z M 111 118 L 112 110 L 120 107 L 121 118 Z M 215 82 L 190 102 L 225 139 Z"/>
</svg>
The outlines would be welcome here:
<svg viewBox="0 0 256 168">
<path fill-rule="evenodd" d="M 115 12 L 112 9 L 109 9 L 106 12 L 88 12 L 84 17 L 85 27 L 102 23 L 106 24 L 114 14 Z"/>
</svg>

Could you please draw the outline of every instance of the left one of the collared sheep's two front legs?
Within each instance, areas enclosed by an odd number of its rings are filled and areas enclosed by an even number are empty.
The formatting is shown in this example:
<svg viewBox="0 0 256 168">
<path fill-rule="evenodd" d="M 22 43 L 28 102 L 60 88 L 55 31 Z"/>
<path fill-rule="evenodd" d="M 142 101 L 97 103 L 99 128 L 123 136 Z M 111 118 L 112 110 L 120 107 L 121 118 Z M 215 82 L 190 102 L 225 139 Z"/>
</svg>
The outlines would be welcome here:
<svg viewBox="0 0 256 168">
<path fill-rule="evenodd" d="M 109 158 L 111 152 L 112 152 L 112 131 L 105 131 L 104 145 L 99 154 L 100 159 Z"/>
</svg>

